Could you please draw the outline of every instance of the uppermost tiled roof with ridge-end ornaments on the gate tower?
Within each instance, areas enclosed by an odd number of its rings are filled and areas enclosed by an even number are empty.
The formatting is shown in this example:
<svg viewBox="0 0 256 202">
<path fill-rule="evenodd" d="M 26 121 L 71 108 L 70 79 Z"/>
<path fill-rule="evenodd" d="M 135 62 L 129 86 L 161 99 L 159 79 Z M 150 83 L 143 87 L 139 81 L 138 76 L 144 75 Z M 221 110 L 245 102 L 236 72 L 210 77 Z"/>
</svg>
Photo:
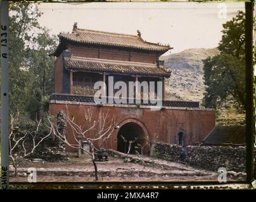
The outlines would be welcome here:
<svg viewBox="0 0 256 202">
<path fill-rule="evenodd" d="M 122 33 L 101 32 L 94 30 L 85 30 L 77 28 L 77 23 L 74 24 L 72 33 L 60 33 L 60 44 L 53 56 L 60 55 L 61 45 L 63 42 L 74 42 L 84 45 L 101 45 L 105 47 L 118 47 L 133 50 L 144 50 L 148 52 L 159 52 L 163 54 L 172 49 L 169 45 L 160 45 L 146 42 L 141 38 L 141 33 L 138 30 L 138 35 L 126 35 Z"/>
</svg>

